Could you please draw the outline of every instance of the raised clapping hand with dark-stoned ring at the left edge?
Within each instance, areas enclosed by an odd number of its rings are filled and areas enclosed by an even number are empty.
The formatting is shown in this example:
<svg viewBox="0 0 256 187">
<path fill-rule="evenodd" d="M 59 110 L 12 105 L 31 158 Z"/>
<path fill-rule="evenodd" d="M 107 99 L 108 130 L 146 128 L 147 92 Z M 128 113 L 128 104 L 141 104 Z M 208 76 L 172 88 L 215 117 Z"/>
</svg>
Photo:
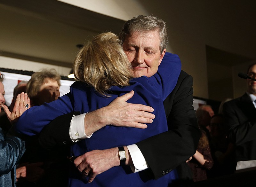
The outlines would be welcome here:
<svg viewBox="0 0 256 187">
<path fill-rule="evenodd" d="M 12 112 L 9 111 L 6 105 L 1 105 L 4 108 L 4 112 L 6 113 L 8 120 L 13 123 L 19 119 L 21 114 L 30 108 L 30 100 L 27 93 L 20 93 L 15 102 Z M 13 105 L 13 104 L 11 104 Z"/>
</svg>

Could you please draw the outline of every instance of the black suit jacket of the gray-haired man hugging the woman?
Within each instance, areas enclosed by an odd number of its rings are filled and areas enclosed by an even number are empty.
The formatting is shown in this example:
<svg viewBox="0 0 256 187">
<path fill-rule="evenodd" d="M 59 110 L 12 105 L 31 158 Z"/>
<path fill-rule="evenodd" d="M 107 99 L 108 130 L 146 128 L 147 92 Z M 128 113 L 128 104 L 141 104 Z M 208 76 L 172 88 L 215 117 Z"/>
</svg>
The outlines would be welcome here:
<svg viewBox="0 0 256 187">
<path fill-rule="evenodd" d="M 155 179 L 177 166 L 180 178 L 192 178 L 185 161 L 196 152 L 201 136 L 192 106 L 192 85 L 192 77 L 181 71 L 174 90 L 164 101 L 168 131 L 137 143 Z M 69 137 L 72 116 L 73 113 L 62 115 L 53 120 L 51 125 L 44 127 L 39 136 L 40 143 L 46 148 L 72 145 Z M 55 129 L 61 132 L 55 133 Z"/>
</svg>

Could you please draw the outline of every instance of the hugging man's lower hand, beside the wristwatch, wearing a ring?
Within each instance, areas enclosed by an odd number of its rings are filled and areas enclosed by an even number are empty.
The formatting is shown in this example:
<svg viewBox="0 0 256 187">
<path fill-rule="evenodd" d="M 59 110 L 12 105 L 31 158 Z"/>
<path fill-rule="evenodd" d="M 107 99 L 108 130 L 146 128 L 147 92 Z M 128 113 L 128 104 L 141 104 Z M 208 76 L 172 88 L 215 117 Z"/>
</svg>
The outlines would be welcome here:
<svg viewBox="0 0 256 187">
<path fill-rule="evenodd" d="M 120 165 L 118 148 L 86 152 L 77 157 L 74 160 L 74 164 L 83 175 L 83 178 L 88 176 L 88 183 L 91 183 L 96 175 Z"/>
</svg>

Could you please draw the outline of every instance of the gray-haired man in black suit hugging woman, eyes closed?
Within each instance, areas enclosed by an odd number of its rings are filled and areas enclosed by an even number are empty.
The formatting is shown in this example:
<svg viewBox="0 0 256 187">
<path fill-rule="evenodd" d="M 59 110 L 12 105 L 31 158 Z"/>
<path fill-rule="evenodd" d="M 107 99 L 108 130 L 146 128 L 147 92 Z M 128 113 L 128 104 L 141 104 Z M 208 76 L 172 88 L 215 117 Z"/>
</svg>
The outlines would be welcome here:
<svg viewBox="0 0 256 187">
<path fill-rule="evenodd" d="M 124 52 L 131 62 L 135 77 L 151 77 L 156 74 L 163 58 L 167 61 L 178 58 L 177 55 L 166 53 L 165 47 L 168 43 L 166 25 L 162 19 L 155 16 L 137 16 L 128 20 L 120 33 L 120 39 L 123 41 Z M 196 123 L 195 110 L 192 106 L 192 85 L 192 77 L 181 71 L 174 90 L 164 100 L 168 131 L 146 140 L 141 139 L 140 142 L 133 145 L 124 145 L 121 148 L 116 147 L 108 150 L 92 150 L 81 156 L 75 155 L 79 157 L 74 160 L 74 163 L 84 177 L 89 177 L 88 182 L 93 182 L 96 175 L 109 168 L 124 167 L 119 166 L 123 164 L 131 166 L 134 172 L 142 172 L 141 170 L 143 170 L 143 173 L 140 173 L 142 181 L 143 175 L 149 175 L 151 180 L 157 180 L 164 175 L 169 175 L 172 178 L 171 176 L 177 175 L 177 173 L 180 179 L 191 178 L 191 171 L 186 165 L 186 160 L 196 152 L 197 143 L 201 136 Z M 44 145 L 61 145 L 62 142 L 73 144 L 80 139 L 88 138 L 86 135 L 91 135 L 87 129 L 91 124 L 92 126 L 113 124 L 123 127 L 146 128 L 144 123 L 151 123 L 151 119 L 154 118 L 146 112 L 152 112 L 152 110 L 145 106 L 126 103 L 131 97 L 132 94 L 128 93 L 117 98 L 110 105 L 86 113 L 86 115 L 74 116 L 73 113 L 70 113 L 60 116 L 43 129 L 40 141 Z M 71 126 L 70 121 L 72 122 Z M 76 126 L 78 127 L 75 128 Z M 55 137 L 54 141 L 49 141 L 46 136 L 49 132 L 47 128 L 59 129 L 63 134 L 66 132 L 66 135 L 68 135 L 67 131 L 70 128 L 70 136 L 61 136 L 60 139 Z M 77 129 L 82 130 L 78 132 Z M 23 129 L 20 129 L 20 132 L 27 133 Z M 83 136 L 76 137 L 72 136 L 73 134 L 82 134 Z M 118 156 L 121 153 L 124 153 L 124 159 Z M 126 169 L 124 172 L 127 172 Z M 122 181 L 120 182 L 122 183 Z M 169 183 L 171 182 L 169 181 Z M 147 185 L 147 181 L 144 183 Z"/>
</svg>

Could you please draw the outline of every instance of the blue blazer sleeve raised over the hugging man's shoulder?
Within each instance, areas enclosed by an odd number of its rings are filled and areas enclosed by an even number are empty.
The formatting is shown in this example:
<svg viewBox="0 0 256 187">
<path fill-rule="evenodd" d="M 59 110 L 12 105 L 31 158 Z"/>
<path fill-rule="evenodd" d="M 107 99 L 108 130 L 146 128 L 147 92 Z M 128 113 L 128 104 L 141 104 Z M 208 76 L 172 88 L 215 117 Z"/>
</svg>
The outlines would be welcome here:
<svg viewBox="0 0 256 187">
<path fill-rule="evenodd" d="M 159 76 L 162 83 L 162 98 L 164 99 L 172 92 L 177 84 L 181 71 L 180 58 L 176 54 L 166 52 L 161 64 L 158 67 L 155 77 Z"/>
</svg>

